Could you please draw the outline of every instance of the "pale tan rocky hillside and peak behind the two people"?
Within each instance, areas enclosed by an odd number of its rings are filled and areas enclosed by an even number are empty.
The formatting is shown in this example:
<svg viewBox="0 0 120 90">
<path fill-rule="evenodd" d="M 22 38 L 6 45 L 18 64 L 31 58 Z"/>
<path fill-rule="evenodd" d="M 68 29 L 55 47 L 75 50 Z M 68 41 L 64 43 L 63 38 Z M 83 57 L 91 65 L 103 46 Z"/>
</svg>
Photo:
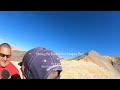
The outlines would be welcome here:
<svg viewBox="0 0 120 90">
<path fill-rule="evenodd" d="M 18 69 L 25 53 L 13 50 L 11 60 Z M 91 50 L 75 58 L 62 58 L 61 63 L 61 79 L 120 79 L 120 57 L 103 56 Z"/>
</svg>

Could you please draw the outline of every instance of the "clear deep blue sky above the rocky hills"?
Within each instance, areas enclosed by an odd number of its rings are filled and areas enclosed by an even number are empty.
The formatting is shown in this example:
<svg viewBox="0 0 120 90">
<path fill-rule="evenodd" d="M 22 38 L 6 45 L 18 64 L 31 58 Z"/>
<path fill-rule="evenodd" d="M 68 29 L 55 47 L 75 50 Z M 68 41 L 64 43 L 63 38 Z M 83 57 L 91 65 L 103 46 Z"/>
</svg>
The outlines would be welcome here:
<svg viewBox="0 0 120 90">
<path fill-rule="evenodd" d="M 23 50 L 120 56 L 120 11 L 1 11 L 0 41 Z"/>
</svg>

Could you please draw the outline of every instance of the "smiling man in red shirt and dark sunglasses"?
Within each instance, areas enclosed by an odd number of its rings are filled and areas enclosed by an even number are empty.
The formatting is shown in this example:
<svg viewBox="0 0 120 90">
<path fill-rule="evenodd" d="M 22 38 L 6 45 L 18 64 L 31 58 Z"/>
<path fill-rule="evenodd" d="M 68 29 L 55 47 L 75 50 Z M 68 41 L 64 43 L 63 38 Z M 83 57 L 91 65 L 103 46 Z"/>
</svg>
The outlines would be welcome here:
<svg viewBox="0 0 120 90">
<path fill-rule="evenodd" d="M 0 45 L 0 79 L 2 79 L 2 72 L 8 71 L 11 79 L 21 79 L 18 69 L 12 64 L 11 59 L 11 46 L 8 43 Z M 4 76 L 7 76 L 4 74 Z"/>
</svg>

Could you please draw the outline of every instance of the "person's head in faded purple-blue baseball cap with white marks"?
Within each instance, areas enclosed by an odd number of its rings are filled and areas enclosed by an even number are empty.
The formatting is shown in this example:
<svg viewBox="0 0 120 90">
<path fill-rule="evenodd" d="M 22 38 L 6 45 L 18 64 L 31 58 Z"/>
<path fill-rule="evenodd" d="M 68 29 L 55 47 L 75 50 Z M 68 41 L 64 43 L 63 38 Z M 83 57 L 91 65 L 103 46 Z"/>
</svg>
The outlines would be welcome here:
<svg viewBox="0 0 120 90">
<path fill-rule="evenodd" d="M 46 48 L 33 48 L 23 57 L 21 66 L 23 79 L 60 79 L 60 58 Z"/>
</svg>

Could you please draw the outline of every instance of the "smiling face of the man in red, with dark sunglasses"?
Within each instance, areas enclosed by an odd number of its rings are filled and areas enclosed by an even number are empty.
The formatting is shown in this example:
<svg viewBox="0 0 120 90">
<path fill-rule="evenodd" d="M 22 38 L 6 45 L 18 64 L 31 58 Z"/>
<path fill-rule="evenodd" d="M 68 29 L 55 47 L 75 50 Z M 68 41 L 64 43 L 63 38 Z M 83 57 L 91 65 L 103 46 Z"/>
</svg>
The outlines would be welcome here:
<svg viewBox="0 0 120 90">
<path fill-rule="evenodd" d="M 0 48 L 0 66 L 6 67 L 10 62 L 11 49 L 7 47 Z"/>
</svg>

